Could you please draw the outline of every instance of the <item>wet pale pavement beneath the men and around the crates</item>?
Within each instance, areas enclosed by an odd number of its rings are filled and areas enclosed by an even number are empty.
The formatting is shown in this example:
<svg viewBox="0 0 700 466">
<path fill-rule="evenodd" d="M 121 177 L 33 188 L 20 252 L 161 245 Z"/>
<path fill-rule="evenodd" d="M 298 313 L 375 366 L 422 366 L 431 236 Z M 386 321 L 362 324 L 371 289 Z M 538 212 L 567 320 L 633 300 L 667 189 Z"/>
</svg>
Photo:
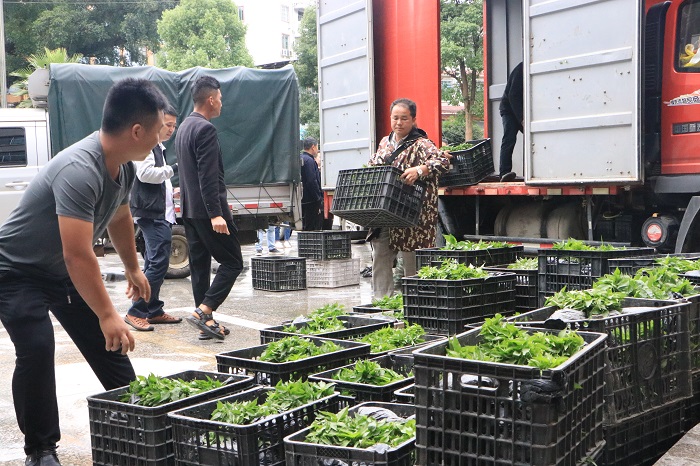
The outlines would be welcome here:
<svg viewBox="0 0 700 466">
<path fill-rule="evenodd" d="M 296 235 L 286 255 L 296 256 Z M 246 269 L 236 281 L 231 294 L 215 314 L 231 329 L 224 340 L 199 341 L 197 330 L 183 322 L 158 325 L 153 332 L 134 331 L 136 349 L 130 353 L 137 374 L 170 375 L 185 370 L 216 370 L 215 355 L 224 351 L 259 345 L 259 330 L 278 325 L 327 303 L 352 306 L 371 301 L 369 278 L 360 284 L 342 288 L 308 288 L 302 291 L 271 292 L 254 290 L 250 272 L 252 244 L 243 245 Z M 371 264 L 367 244 L 353 244 L 353 257 L 360 259 L 360 269 Z M 121 262 L 116 254 L 99 259 L 106 287 L 115 306 L 125 313 L 129 300 L 124 292 Z M 186 317 L 194 307 L 189 279 L 166 280 L 161 289 L 166 311 Z M 104 392 L 79 351 L 54 320 L 56 335 L 56 383 L 61 417 L 62 439 L 59 458 L 64 466 L 92 465 L 89 416 L 86 397 Z M 23 436 L 17 427 L 12 405 L 11 380 L 14 370 L 14 347 L 7 331 L 0 325 L 0 466 L 24 464 Z"/>
</svg>

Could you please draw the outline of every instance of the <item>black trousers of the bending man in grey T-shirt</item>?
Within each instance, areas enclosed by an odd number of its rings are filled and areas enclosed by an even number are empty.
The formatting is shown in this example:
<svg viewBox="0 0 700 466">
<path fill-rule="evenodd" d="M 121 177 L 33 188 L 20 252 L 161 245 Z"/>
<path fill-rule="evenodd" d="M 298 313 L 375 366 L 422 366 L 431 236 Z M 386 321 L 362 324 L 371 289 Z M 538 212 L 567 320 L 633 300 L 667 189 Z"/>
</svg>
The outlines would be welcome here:
<svg viewBox="0 0 700 466">
<path fill-rule="evenodd" d="M 105 350 L 94 312 L 70 281 L 48 281 L 0 272 L 0 321 L 15 346 L 12 397 L 27 454 L 61 438 L 56 400 L 55 341 L 49 310 L 88 362 L 105 390 L 136 378 L 131 361 Z"/>
</svg>

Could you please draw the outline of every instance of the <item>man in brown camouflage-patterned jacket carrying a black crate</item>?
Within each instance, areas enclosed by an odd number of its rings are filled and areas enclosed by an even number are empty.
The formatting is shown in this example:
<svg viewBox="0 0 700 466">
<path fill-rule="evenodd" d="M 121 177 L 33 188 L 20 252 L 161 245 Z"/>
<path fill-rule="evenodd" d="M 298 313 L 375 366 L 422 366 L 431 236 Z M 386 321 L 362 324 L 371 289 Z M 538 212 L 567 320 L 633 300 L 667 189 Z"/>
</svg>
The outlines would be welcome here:
<svg viewBox="0 0 700 466">
<path fill-rule="evenodd" d="M 437 178 L 449 170 L 446 154 L 416 127 L 416 103 L 397 99 L 391 103 L 391 133 L 379 143 L 377 153 L 369 165 L 385 165 L 392 154 L 401 149 L 391 165 L 403 170 L 401 179 L 412 185 L 417 180 L 427 184 L 418 225 L 413 228 L 382 228 L 371 239 L 374 249 L 372 260 L 372 290 L 374 299 L 394 292 L 392 266 L 397 254 L 403 258 L 404 276 L 416 274 L 416 249 L 435 246 L 437 226 Z"/>
</svg>

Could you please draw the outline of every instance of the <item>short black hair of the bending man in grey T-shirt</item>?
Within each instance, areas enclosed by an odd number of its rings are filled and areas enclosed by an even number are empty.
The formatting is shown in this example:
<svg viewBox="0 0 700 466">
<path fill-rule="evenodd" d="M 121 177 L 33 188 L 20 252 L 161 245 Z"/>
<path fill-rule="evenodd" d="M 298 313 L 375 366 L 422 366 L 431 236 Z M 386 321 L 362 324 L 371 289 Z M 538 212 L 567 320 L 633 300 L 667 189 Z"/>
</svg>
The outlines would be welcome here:
<svg viewBox="0 0 700 466">
<path fill-rule="evenodd" d="M 150 127 L 168 101 L 155 84 L 146 79 L 117 81 L 107 93 L 102 109 L 101 130 L 117 134 L 136 123 Z"/>
</svg>

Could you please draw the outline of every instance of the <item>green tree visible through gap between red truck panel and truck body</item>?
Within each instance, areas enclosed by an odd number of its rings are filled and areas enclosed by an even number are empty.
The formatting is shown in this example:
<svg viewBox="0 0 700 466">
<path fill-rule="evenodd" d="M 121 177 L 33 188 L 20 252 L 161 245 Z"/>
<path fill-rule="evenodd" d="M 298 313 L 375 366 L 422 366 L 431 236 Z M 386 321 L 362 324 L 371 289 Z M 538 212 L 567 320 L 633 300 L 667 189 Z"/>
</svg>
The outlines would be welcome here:
<svg viewBox="0 0 700 466">
<path fill-rule="evenodd" d="M 443 92 L 451 104 L 464 104 L 466 140 L 474 139 L 473 122 L 483 115 L 479 75 L 483 61 L 483 5 L 481 0 L 440 0 L 442 72 L 457 80 L 454 91 Z M 482 102 L 482 105 L 479 105 Z"/>
</svg>

